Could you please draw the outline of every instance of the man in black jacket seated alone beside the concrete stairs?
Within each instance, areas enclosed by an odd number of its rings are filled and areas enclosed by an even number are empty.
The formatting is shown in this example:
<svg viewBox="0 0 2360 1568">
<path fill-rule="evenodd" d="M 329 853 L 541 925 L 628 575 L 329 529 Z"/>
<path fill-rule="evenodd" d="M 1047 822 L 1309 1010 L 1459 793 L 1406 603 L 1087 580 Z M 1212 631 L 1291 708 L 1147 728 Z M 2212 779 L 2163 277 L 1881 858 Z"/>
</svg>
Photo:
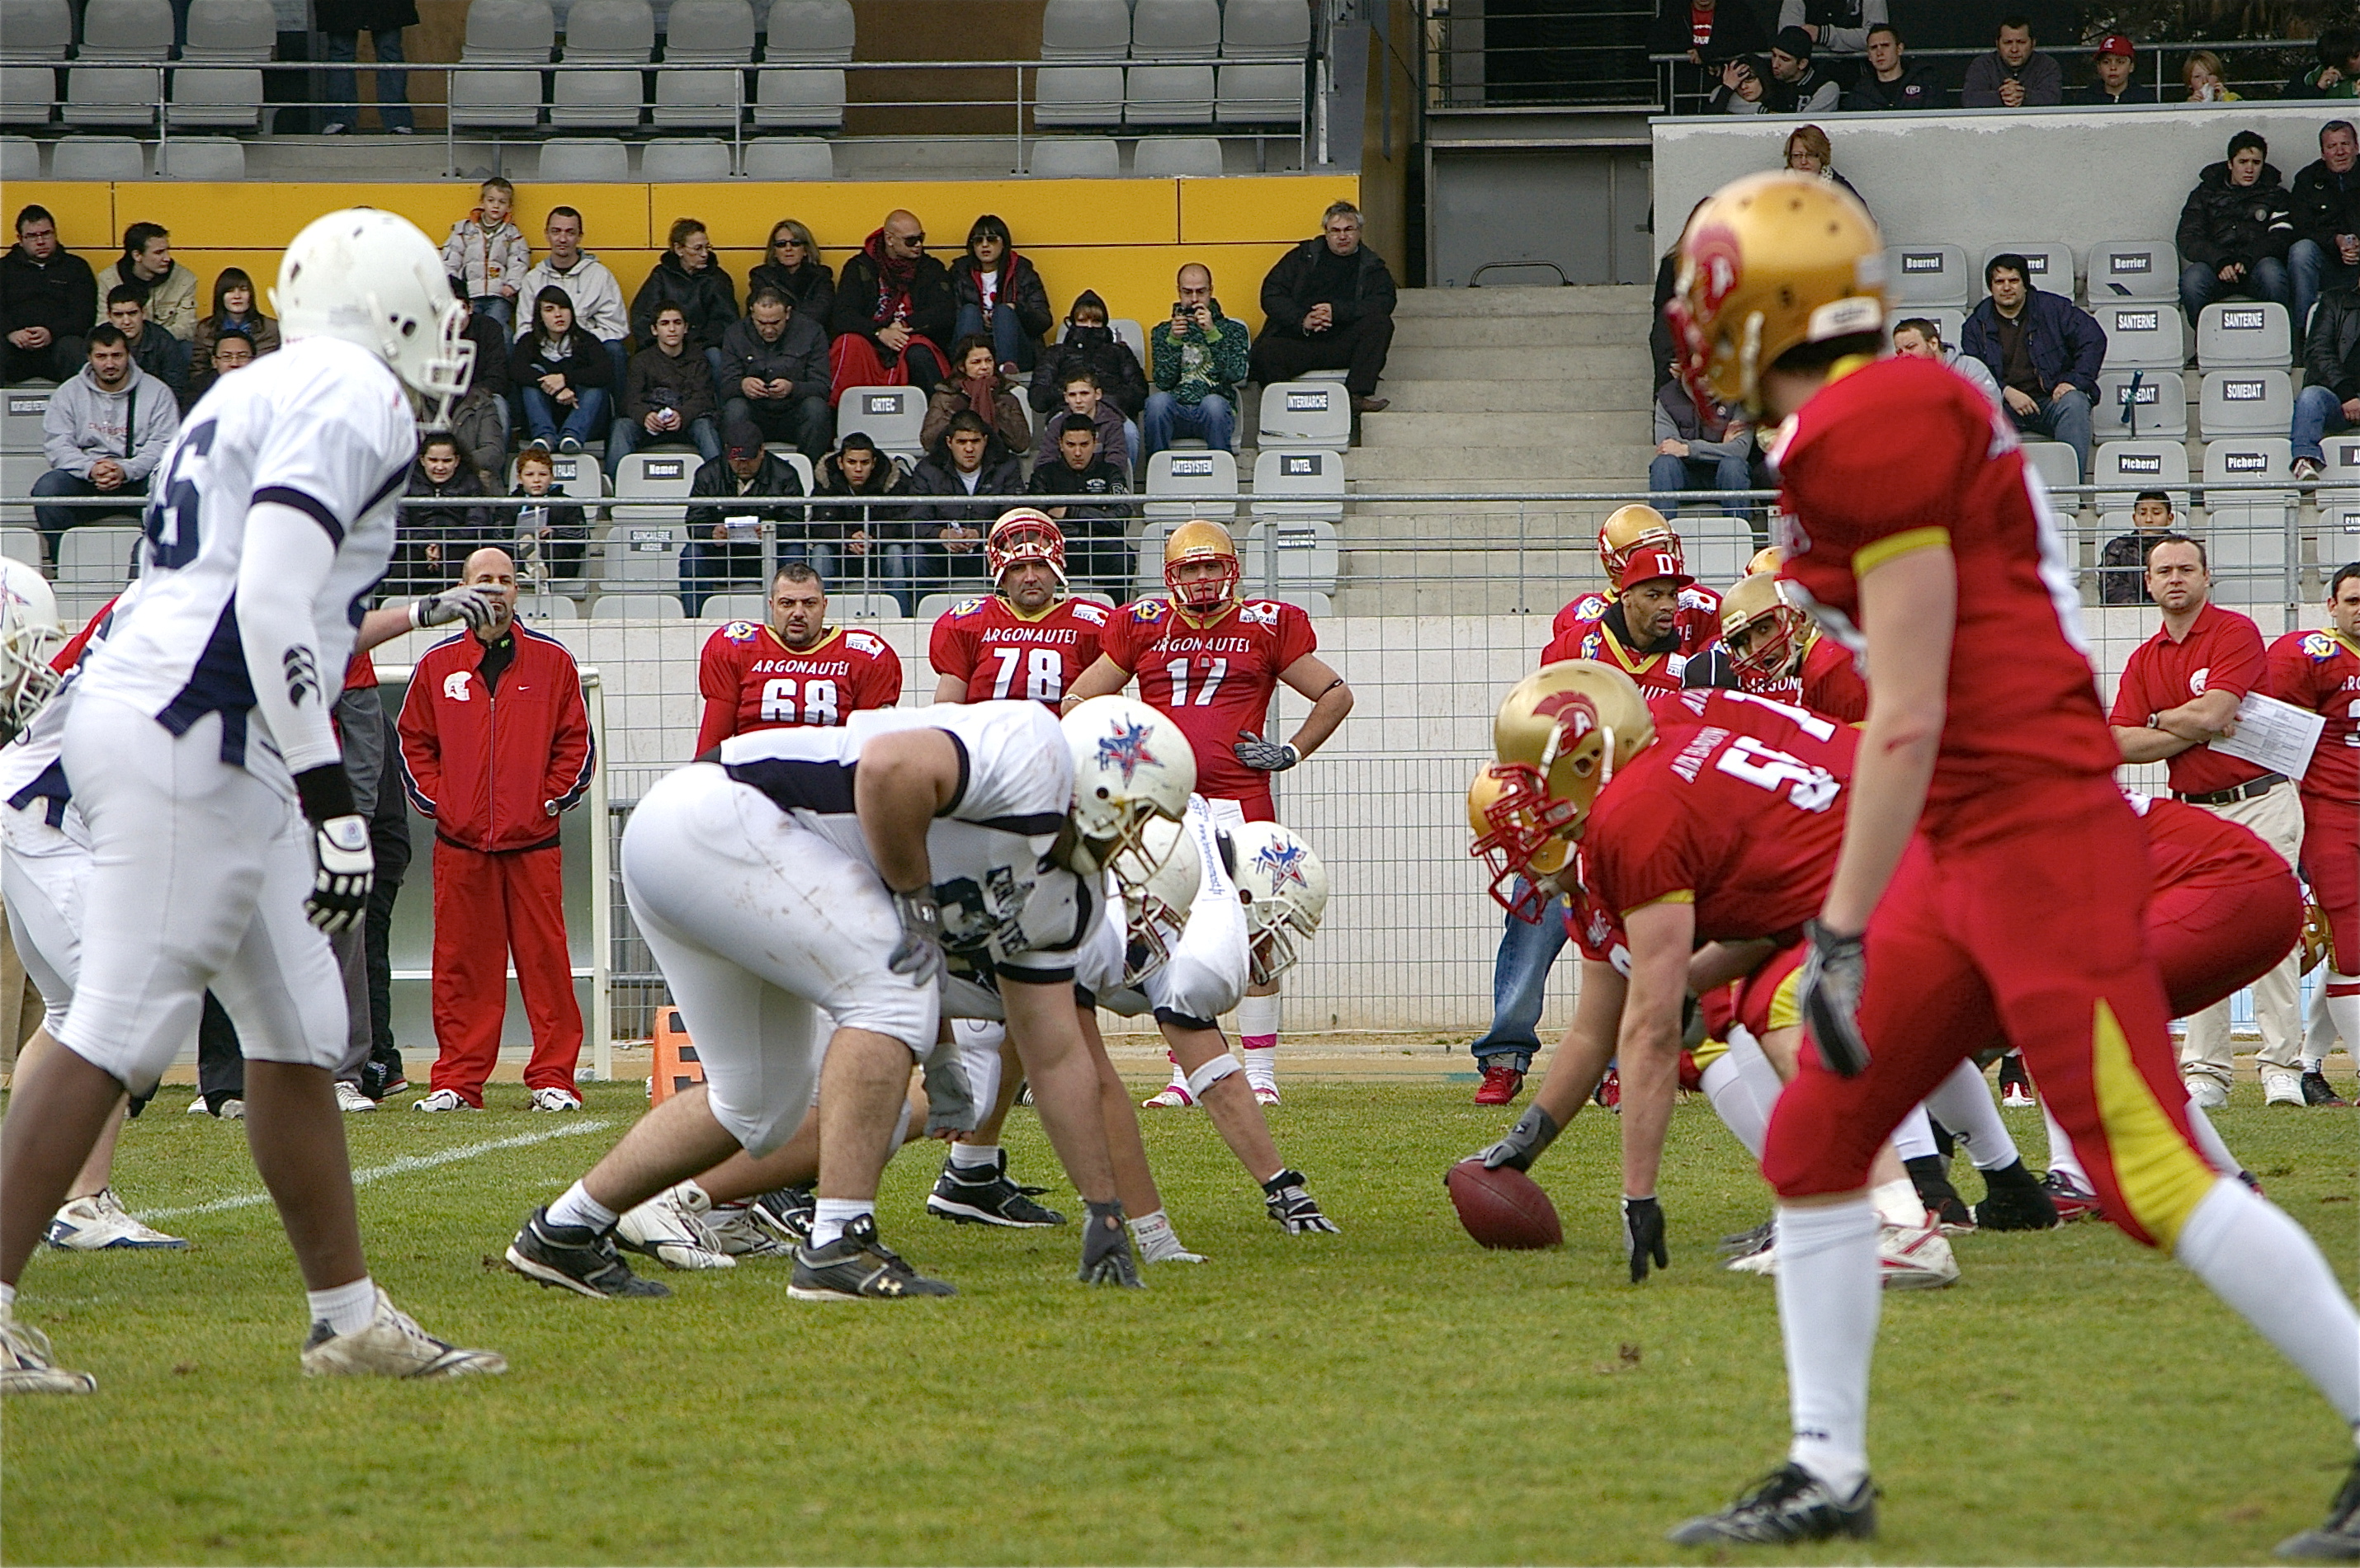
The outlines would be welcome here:
<svg viewBox="0 0 2360 1568">
<path fill-rule="evenodd" d="M 1253 380 L 1270 387 L 1305 370 L 1345 370 L 1352 413 L 1378 413 L 1376 396 L 1392 349 L 1392 274 L 1359 243 L 1359 207 L 1331 203 L 1322 236 L 1291 248 L 1263 278 L 1263 335 Z"/>
</svg>

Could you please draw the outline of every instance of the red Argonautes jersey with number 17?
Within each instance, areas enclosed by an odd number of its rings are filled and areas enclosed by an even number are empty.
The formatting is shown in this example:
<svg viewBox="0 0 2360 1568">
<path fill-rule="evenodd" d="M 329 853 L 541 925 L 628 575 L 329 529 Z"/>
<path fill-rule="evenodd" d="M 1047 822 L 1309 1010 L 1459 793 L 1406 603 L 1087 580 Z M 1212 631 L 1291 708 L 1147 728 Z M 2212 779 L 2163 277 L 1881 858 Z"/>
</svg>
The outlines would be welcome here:
<svg viewBox="0 0 2360 1568">
<path fill-rule="evenodd" d="M 1206 622 L 1163 599 L 1135 599 L 1114 611 L 1104 637 L 1107 658 L 1140 677 L 1140 700 L 1197 750 L 1197 792 L 1237 802 L 1270 799 L 1270 773 L 1237 759 L 1237 738 L 1270 729 L 1279 672 L 1317 648 L 1312 618 L 1277 599 L 1246 599 Z"/>
</svg>

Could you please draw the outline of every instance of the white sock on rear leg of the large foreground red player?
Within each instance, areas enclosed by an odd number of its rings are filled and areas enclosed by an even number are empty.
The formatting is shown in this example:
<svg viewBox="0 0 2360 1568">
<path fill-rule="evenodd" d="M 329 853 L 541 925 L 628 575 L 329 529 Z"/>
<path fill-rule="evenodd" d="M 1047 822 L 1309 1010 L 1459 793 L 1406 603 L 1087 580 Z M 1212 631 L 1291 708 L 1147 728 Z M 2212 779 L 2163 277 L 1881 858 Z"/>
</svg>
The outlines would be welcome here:
<svg viewBox="0 0 2360 1568">
<path fill-rule="evenodd" d="M 2360 1313 L 2303 1226 L 2242 1181 L 2221 1179 L 2188 1214 L 2174 1252 L 2327 1396 L 2346 1427 L 2360 1422 Z"/>
</svg>

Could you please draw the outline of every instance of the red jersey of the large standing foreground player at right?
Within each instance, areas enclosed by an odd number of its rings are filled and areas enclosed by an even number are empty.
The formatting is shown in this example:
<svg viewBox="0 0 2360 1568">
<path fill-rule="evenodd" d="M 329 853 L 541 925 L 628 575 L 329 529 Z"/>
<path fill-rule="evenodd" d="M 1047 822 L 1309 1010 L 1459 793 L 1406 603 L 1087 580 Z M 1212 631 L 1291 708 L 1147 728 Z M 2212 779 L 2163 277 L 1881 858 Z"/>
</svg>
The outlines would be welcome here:
<svg viewBox="0 0 2360 1568">
<path fill-rule="evenodd" d="M 1860 571 L 1949 545 L 1959 620 L 1949 717 L 1926 825 L 2041 780 L 2112 776 L 2122 762 L 2098 705 L 2074 561 L 2025 479 L 2015 427 L 1954 373 L 1883 358 L 1829 382 L 1787 422 L 1779 575 L 1824 632 L 1862 646 Z"/>
</svg>

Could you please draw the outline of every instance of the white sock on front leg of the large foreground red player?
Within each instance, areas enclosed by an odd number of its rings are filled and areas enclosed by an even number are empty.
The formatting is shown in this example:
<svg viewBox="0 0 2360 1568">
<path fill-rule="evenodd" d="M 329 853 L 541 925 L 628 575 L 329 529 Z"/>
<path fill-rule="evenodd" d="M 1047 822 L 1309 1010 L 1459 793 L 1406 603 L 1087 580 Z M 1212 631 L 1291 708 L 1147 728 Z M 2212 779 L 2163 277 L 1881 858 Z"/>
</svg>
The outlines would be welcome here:
<svg viewBox="0 0 2360 1568">
<path fill-rule="evenodd" d="M 1869 1474 L 1876 1356 L 1876 1210 L 1867 1198 L 1777 1212 L 1777 1320 L 1787 1342 L 1787 1457 L 1850 1497 Z"/>
</svg>

